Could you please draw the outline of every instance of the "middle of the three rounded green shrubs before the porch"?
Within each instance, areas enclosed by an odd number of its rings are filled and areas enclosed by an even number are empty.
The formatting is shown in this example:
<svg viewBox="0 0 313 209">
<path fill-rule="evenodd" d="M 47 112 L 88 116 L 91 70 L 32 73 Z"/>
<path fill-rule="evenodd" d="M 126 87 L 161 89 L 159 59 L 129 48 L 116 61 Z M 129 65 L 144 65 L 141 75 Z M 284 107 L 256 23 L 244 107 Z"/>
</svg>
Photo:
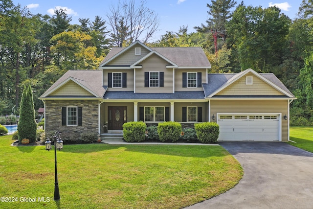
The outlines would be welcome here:
<svg viewBox="0 0 313 209">
<path fill-rule="evenodd" d="M 157 126 L 157 134 L 160 141 L 177 141 L 181 133 L 181 124 L 179 122 L 163 122 Z"/>
</svg>

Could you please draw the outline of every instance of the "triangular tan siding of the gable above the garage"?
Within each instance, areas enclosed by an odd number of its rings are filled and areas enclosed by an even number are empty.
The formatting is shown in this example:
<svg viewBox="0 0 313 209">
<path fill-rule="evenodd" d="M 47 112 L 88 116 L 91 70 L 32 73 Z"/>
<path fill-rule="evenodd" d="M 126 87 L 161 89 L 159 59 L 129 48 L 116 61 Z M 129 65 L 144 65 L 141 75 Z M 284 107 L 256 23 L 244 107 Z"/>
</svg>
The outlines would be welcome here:
<svg viewBox="0 0 313 209">
<path fill-rule="evenodd" d="M 253 77 L 253 84 L 246 85 L 246 76 Z M 252 73 L 246 74 L 216 95 L 284 95 Z"/>
</svg>

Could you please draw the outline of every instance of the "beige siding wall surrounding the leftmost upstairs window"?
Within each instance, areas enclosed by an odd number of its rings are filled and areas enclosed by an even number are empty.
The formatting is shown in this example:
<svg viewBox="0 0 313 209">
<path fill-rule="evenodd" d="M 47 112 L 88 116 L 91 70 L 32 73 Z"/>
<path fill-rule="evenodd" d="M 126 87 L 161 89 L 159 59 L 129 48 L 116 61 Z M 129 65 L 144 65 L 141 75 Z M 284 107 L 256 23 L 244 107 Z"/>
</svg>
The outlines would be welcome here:
<svg viewBox="0 0 313 209">
<path fill-rule="evenodd" d="M 127 88 L 108 88 L 108 91 L 134 91 L 134 70 L 103 70 L 103 85 L 108 86 L 108 73 L 109 72 L 126 72 L 127 75 Z"/>
</svg>

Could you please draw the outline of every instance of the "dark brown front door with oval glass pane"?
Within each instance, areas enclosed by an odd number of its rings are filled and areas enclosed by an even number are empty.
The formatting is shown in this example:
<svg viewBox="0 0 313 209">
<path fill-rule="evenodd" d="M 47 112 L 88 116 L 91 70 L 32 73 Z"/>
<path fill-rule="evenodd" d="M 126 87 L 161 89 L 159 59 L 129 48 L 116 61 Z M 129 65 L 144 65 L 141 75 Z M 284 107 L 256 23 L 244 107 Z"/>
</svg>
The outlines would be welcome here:
<svg viewBox="0 0 313 209">
<path fill-rule="evenodd" d="M 108 129 L 123 130 L 123 124 L 127 122 L 127 107 L 108 107 Z"/>
</svg>

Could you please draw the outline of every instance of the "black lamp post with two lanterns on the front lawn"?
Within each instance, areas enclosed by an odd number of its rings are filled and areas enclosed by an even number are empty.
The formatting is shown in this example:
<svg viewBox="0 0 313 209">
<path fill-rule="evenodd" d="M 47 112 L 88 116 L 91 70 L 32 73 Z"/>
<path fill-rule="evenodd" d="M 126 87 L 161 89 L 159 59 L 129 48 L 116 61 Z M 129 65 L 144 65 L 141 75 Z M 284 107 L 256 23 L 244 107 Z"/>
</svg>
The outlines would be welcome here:
<svg viewBox="0 0 313 209">
<path fill-rule="evenodd" d="M 54 141 L 54 164 L 55 164 L 55 183 L 54 183 L 54 198 L 53 200 L 60 200 L 60 193 L 59 193 L 59 183 L 58 183 L 58 173 L 57 173 L 57 151 L 63 149 L 63 141 L 61 140 L 61 134 L 55 132 L 54 135 L 47 133 L 46 135 L 47 140 L 45 141 L 45 149 L 50 151 L 52 141 Z M 50 141 L 52 138 L 52 141 Z"/>
</svg>

